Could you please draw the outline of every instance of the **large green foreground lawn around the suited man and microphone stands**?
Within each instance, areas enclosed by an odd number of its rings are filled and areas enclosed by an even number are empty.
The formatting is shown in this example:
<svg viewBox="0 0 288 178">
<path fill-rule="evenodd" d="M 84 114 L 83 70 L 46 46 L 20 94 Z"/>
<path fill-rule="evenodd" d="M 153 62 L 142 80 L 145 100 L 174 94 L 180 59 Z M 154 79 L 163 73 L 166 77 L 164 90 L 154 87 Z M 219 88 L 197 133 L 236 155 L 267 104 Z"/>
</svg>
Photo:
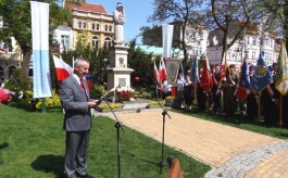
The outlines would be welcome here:
<svg viewBox="0 0 288 178">
<path fill-rule="evenodd" d="M 0 175 L 8 178 L 64 177 L 63 155 L 65 131 L 61 109 L 46 113 L 0 104 Z M 90 135 L 88 173 L 97 178 L 117 177 L 115 123 L 108 117 L 95 117 Z M 121 177 L 164 178 L 160 174 L 161 143 L 127 127 L 120 130 Z M 203 177 L 208 165 L 164 148 L 164 157 L 178 157 L 185 177 Z M 165 162 L 166 163 L 166 162 Z"/>
</svg>

